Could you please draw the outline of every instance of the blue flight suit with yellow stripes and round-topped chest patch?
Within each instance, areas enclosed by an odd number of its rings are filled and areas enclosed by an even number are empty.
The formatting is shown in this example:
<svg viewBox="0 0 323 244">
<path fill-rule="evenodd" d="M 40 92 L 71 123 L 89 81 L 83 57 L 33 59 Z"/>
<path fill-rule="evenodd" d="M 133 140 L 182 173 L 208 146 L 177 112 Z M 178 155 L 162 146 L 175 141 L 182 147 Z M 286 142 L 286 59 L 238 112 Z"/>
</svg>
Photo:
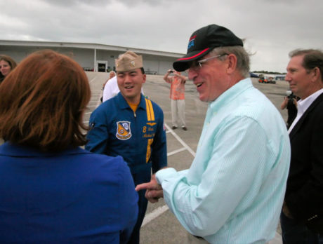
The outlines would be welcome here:
<svg viewBox="0 0 323 244">
<path fill-rule="evenodd" d="M 166 133 L 162 109 L 141 95 L 136 112 L 118 93 L 93 111 L 86 149 L 109 156 L 121 155 L 128 163 L 135 185 L 150 182 L 152 173 L 167 165 Z M 129 243 L 139 243 L 145 217 L 145 191 L 139 194 L 138 220 Z"/>
</svg>

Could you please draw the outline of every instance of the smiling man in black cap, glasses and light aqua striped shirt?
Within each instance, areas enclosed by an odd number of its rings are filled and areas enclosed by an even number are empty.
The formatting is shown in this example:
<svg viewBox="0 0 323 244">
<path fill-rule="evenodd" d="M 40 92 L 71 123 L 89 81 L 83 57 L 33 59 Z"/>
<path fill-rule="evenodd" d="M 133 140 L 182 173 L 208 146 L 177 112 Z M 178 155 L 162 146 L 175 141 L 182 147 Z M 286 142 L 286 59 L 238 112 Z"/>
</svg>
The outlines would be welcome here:
<svg viewBox="0 0 323 244">
<path fill-rule="evenodd" d="M 159 170 L 147 189 L 164 197 L 190 233 L 190 243 L 265 243 L 275 236 L 289 170 L 289 137 L 282 116 L 249 78 L 242 40 L 208 25 L 190 36 L 188 69 L 199 98 L 209 102 L 190 169 Z"/>
</svg>

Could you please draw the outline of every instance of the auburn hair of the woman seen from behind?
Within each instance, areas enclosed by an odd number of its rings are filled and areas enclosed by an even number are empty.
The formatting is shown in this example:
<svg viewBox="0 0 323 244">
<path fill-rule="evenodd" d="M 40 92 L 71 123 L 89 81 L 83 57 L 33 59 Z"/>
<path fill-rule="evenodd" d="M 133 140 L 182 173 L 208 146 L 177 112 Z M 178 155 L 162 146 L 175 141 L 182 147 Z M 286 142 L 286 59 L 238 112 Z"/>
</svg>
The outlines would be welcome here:
<svg viewBox="0 0 323 244">
<path fill-rule="evenodd" d="M 32 53 L 1 83 L 0 137 L 42 151 L 84 145 L 90 97 L 77 62 L 53 50 Z"/>
</svg>

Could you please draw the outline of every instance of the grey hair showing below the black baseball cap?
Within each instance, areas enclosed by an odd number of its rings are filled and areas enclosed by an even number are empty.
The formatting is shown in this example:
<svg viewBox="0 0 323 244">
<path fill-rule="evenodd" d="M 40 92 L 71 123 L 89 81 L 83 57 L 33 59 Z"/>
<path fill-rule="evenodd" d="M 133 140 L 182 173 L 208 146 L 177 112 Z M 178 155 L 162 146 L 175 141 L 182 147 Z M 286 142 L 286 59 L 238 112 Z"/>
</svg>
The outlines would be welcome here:
<svg viewBox="0 0 323 244">
<path fill-rule="evenodd" d="M 234 54 L 237 57 L 237 69 L 244 78 L 250 76 L 250 59 L 249 53 L 246 52 L 242 46 L 222 46 L 214 48 L 211 50 L 211 55 L 225 55 L 225 54 Z M 225 57 L 219 57 L 220 60 L 224 60 Z"/>
</svg>

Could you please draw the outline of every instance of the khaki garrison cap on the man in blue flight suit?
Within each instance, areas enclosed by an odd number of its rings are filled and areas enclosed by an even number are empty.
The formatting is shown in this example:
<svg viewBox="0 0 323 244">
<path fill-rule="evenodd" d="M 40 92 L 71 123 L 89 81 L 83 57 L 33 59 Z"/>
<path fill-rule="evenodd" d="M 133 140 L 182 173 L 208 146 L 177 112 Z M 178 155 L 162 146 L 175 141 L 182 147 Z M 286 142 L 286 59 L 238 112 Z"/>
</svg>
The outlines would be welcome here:
<svg viewBox="0 0 323 244">
<path fill-rule="evenodd" d="M 143 67 L 143 57 L 131 51 L 126 51 L 126 53 L 120 55 L 115 62 L 117 72 L 127 72 Z"/>
</svg>

